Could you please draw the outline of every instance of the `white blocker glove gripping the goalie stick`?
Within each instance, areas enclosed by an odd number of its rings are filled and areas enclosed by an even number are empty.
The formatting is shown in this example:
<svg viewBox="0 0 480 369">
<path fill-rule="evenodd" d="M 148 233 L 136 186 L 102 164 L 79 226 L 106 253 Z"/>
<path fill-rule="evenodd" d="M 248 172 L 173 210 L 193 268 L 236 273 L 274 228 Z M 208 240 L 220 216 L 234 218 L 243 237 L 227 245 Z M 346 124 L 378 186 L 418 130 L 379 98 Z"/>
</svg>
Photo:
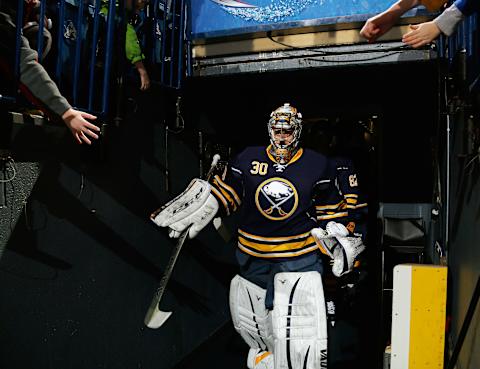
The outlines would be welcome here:
<svg viewBox="0 0 480 369">
<path fill-rule="evenodd" d="M 218 202 L 210 189 L 208 182 L 193 179 L 185 191 L 152 215 L 152 221 L 160 227 L 169 227 L 173 238 L 192 225 L 189 237 L 195 237 L 218 212 Z"/>
</svg>

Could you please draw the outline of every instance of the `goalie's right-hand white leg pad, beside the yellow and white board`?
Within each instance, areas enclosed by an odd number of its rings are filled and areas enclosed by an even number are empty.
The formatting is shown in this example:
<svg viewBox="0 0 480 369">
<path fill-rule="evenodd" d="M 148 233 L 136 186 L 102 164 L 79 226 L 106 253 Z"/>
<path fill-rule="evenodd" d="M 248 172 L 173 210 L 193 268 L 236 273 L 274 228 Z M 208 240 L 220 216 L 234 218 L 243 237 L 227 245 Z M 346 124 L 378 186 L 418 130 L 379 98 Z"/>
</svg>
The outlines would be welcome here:
<svg viewBox="0 0 480 369">
<path fill-rule="evenodd" d="M 274 286 L 275 369 L 327 368 L 327 315 L 320 273 L 278 273 Z"/>
</svg>

